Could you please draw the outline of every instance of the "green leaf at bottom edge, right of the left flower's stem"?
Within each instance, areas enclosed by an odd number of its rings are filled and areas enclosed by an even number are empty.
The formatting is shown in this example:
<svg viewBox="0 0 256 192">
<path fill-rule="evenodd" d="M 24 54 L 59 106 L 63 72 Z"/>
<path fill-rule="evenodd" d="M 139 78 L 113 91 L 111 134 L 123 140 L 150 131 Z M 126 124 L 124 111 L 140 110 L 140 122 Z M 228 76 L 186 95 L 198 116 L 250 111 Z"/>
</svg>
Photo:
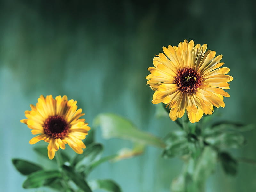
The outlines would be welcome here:
<svg viewBox="0 0 256 192">
<path fill-rule="evenodd" d="M 89 182 L 92 190 L 103 189 L 109 192 L 121 192 L 121 188 L 113 180 L 93 180 Z"/>
</svg>

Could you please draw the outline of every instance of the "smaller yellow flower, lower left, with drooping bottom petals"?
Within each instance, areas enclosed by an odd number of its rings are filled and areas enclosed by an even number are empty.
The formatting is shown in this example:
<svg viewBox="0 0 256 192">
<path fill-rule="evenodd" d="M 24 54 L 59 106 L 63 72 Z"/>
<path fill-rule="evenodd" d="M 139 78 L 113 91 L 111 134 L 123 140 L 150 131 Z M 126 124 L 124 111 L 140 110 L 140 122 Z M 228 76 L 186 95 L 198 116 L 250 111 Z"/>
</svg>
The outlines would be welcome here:
<svg viewBox="0 0 256 192">
<path fill-rule="evenodd" d="M 68 144 L 76 153 L 83 153 L 86 148 L 82 139 L 88 134 L 90 127 L 85 119 L 79 119 L 84 115 L 82 109 L 77 110 L 77 101 L 68 100 L 67 96 L 41 95 L 36 106 L 30 105 L 31 111 L 25 111 L 27 119 L 21 120 L 28 125 L 33 135 L 29 143 L 35 144 L 44 140 L 48 144 L 48 157 L 53 159 L 55 152 L 65 149 Z"/>
</svg>

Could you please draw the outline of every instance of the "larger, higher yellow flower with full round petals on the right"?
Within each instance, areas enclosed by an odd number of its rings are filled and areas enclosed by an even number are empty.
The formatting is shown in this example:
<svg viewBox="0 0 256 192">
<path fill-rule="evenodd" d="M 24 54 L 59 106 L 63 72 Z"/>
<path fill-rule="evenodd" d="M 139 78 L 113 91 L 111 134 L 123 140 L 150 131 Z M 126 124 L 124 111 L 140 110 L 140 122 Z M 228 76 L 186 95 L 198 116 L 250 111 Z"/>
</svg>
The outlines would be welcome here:
<svg viewBox="0 0 256 192">
<path fill-rule="evenodd" d="M 233 77 L 226 75 L 229 68 L 221 67 L 222 55 L 215 57 L 215 51 L 207 50 L 207 44 L 197 44 L 187 40 L 178 47 L 163 47 L 153 59 L 154 67 L 149 67 L 147 84 L 155 91 L 153 104 L 165 103 L 169 107 L 170 118 L 175 121 L 185 111 L 191 123 L 198 122 L 203 113 L 212 114 L 213 106 L 225 107 L 224 97 L 230 95 L 227 82 Z"/>
</svg>

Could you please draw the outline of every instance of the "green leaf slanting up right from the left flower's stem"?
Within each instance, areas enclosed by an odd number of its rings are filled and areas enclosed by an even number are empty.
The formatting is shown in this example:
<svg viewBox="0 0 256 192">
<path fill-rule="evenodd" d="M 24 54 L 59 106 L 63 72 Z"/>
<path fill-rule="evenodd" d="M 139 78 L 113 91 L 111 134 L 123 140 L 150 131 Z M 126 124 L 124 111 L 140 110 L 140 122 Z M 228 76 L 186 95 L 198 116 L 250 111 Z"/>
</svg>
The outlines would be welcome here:
<svg viewBox="0 0 256 192">
<path fill-rule="evenodd" d="M 71 165 L 76 164 L 91 164 L 99 159 L 99 156 L 103 150 L 103 146 L 100 143 L 92 143 L 84 149 L 82 154 L 77 154 L 72 161 Z M 79 166 L 79 165 L 78 165 Z"/>
</svg>

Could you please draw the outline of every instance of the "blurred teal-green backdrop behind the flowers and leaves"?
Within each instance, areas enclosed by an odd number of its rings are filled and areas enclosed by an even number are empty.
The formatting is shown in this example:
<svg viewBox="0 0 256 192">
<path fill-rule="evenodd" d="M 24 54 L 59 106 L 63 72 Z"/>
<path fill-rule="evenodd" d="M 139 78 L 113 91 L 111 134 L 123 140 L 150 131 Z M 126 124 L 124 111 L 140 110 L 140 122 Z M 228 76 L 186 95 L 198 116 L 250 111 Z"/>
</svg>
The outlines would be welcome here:
<svg viewBox="0 0 256 192">
<path fill-rule="evenodd" d="M 20 123 L 41 94 L 77 100 L 89 125 L 97 114 L 112 112 L 161 138 L 176 129 L 170 119 L 156 118 L 145 77 L 154 54 L 184 39 L 207 43 L 222 54 L 234 77 L 231 97 L 224 99 L 226 107 L 218 118 L 255 123 L 255 7 L 255 1 L 244 0 L 1 1 L 1 191 L 47 191 L 22 189 L 25 177 L 11 163 L 14 157 L 44 162 L 28 143 L 30 129 Z M 102 139 L 100 129 L 96 133 L 105 155 L 131 146 L 124 140 Z M 256 159 L 256 130 L 244 136 L 247 144 L 231 153 Z M 168 192 L 181 168 L 180 159 L 164 160 L 160 149 L 148 147 L 141 156 L 100 165 L 90 178 L 113 179 L 124 192 Z M 206 191 L 254 192 L 255 176 L 252 164 L 239 162 L 235 177 L 218 165 Z"/>
</svg>

